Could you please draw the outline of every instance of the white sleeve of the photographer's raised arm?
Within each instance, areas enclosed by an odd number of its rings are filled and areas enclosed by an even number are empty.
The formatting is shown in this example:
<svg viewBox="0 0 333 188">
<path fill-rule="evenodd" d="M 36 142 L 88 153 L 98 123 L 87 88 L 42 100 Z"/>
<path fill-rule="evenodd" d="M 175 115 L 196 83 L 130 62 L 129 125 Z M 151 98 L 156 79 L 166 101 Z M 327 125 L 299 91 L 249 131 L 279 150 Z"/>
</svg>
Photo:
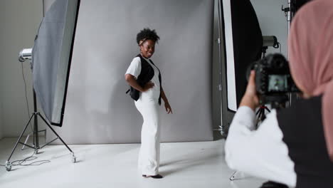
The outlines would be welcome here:
<svg viewBox="0 0 333 188">
<path fill-rule="evenodd" d="M 267 115 L 258 130 L 253 130 L 254 125 L 253 110 L 245 106 L 238 108 L 225 145 L 228 167 L 295 187 L 294 162 L 282 141 L 276 110 Z"/>
</svg>

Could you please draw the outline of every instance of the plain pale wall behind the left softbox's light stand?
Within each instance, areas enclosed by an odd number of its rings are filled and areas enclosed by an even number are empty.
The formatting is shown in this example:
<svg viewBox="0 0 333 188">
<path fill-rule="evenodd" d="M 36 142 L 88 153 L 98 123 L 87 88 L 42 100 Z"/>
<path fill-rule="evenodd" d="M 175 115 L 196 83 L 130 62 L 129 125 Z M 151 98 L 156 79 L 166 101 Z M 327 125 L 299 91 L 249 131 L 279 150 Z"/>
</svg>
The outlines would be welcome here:
<svg viewBox="0 0 333 188">
<path fill-rule="evenodd" d="M 32 48 L 42 17 L 42 0 L 0 1 L 0 137 L 18 136 L 28 120 L 18 52 L 22 48 Z M 23 63 L 23 72 L 32 113 L 32 78 L 28 62 Z"/>
</svg>

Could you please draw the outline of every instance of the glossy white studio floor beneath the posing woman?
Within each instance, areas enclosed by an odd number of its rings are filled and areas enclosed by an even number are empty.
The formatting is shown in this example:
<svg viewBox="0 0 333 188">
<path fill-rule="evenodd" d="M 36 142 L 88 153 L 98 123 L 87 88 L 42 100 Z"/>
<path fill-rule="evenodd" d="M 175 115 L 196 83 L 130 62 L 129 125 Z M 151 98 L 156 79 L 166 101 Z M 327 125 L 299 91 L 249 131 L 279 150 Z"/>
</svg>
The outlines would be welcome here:
<svg viewBox="0 0 333 188">
<path fill-rule="evenodd" d="M 17 138 L 0 140 L 0 164 L 5 164 Z M 24 142 L 24 140 L 23 140 Z M 43 143 L 43 139 L 41 140 Z M 21 160 L 33 150 L 21 150 L 11 158 Z M 0 167 L 0 187 L 232 187 L 257 188 L 265 182 L 240 174 L 231 182 L 233 170 L 224 160 L 224 140 L 211 142 L 173 142 L 161 144 L 160 174 L 163 179 L 144 178 L 137 172 L 139 144 L 70 145 L 77 162 L 63 145 L 43 147 L 38 160 L 50 160 L 40 166 L 14 166 L 10 172 Z"/>
</svg>

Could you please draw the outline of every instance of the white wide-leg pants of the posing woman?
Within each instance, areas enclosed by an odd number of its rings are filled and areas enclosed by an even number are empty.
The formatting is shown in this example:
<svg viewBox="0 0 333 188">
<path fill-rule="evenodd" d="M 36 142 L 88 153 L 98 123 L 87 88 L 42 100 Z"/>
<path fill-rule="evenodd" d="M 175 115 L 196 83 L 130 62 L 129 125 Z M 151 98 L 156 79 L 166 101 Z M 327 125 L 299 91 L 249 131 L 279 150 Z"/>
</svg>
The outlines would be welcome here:
<svg viewBox="0 0 333 188">
<path fill-rule="evenodd" d="M 142 170 L 142 174 L 156 175 L 159 173 L 159 104 L 136 102 L 135 106 L 144 120 L 141 130 L 138 166 Z"/>
</svg>

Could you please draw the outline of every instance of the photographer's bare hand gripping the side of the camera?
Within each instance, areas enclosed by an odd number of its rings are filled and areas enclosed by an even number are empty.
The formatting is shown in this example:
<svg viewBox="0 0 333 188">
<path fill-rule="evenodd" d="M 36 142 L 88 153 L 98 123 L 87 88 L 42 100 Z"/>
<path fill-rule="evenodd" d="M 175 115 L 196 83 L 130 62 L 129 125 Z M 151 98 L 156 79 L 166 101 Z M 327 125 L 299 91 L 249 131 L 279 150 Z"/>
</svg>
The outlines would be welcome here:
<svg viewBox="0 0 333 188">
<path fill-rule="evenodd" d="M 257 90 L 255 90 L 255 71 L 251 71 L 250 78 L 248 79 L 248 87 L 246 87 L 245 94 L 240 101 L 239 106 L 248 106 L 252 110 L 259 107 L 259 98 Z"/>
</svg>

